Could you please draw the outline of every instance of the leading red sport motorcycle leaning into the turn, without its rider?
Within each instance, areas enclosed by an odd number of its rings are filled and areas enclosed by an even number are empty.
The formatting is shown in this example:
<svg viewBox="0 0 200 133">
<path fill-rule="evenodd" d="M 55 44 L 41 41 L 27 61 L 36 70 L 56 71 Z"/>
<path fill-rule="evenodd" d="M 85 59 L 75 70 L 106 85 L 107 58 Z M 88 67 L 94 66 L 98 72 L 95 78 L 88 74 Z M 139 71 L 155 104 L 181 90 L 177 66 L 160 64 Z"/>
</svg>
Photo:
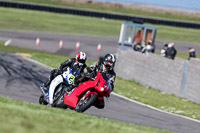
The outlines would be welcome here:
<svg viewBox="0 0 200 133">
<path fill-rule="evenodd" d="M 56 101 L 56 107 L 71 108 L 84 112 L 91 106 L 102 101 L 111 92 L 110 79 L 99 72 L 94 80 L 89 79 L 75 87 L 71 92 L 63 92 Z"/>
</svg>

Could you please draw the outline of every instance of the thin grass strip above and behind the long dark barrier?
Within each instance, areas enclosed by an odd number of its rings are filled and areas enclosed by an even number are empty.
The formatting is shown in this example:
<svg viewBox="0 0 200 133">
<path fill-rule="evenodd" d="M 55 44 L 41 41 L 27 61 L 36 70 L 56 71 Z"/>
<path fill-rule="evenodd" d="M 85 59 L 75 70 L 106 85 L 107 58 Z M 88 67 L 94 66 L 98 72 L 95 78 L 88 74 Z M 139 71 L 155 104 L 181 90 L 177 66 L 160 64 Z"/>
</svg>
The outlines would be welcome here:
<svg viewBox="0 0 200 133">
<path fill-rule="evenodd" d="M 200 16 L 198 15 L 187 15 L 187 14 L 176 14 L 176 13 L 167 13 L 163 11 L 145 11 L 139 9 L 128 9 L 121 7 L 106 7 L 103 5 L 95 5 L 95 4 L 81 4 L 81 3 L 68 3 L 63 0 L 10 0 L 10 1 L 21 1 L 21 2 L 33 2 L 40 4 L 49 4 L 49 5 L 59 5 L 66 7 L 74 7 L 74 8 L 82 8 L 82 9 L 90 9 L 90 10 L 98 10 L 104 12 L 115 12 L 115 13 L 123 13 L 137 16 L 147 16 L 147 17 L 157 17 L 164 19 L 174 19 L 174 20 L 184 20 L 184 21 L 193 21 L 200 22 Z"/>
</svg>

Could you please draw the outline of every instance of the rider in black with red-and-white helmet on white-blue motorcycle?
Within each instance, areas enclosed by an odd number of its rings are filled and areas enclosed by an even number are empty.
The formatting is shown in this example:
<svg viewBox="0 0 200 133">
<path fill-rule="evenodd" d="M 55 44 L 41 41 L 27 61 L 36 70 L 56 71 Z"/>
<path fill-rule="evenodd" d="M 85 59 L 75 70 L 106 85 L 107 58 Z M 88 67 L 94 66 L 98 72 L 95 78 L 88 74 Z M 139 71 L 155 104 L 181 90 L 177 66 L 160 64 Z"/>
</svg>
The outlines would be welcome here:
<svg viewBox="0 0 200 133">
<path fill-rule="evenodd" d="M 65 70 L 67 67 L 70 67 L 71 69 L 78 68 L 78 69 L 80 69 L 80 74 L 83 73 L 83 70 L 87 67 L 87 65 L 85 64 L 86 60 L 87 60 L 86 53 L 78 52 L 76 54 L 76 58 L 70 58 L 70 59 L 66 60 L 65 62 L 61 63 L 58 69 L 53 69 L 50 73 L 48 81 L 43 83 L 41 88 L 44 90 L 45 93 L 48 92 L 48 88 L 49 88 L 51 81 L 59 74 L 62 74 L 63 70 Z M 80 74 L 77 74 L 77 76 L 74 79 L 74 84 L 69 86 L 69 88 L 68 88 L 69 90 L 71 90 L 75 87 L 76 80 L 78 80 Z"/>
</svg>

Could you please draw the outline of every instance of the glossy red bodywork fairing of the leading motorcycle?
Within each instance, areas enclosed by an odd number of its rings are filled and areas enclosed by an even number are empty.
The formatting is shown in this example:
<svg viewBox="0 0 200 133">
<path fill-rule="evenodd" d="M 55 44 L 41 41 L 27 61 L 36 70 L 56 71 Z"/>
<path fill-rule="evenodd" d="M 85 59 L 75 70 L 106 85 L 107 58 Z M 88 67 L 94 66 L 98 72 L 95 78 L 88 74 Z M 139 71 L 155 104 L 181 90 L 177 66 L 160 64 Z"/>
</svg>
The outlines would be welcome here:
<svg viewBox="0 0 200 133">
<path fill-rule="evenodd" d="M 64 103 L 75 108 L 78 100 L 83 96 L 83 94 L 85 94 L 86 91 L 88 92 L 85 97 L 87 97 L 90 93 L 94 93 L 98 96 L 99 101 L 103 100 L 104 96 L 108 96 L 110 94 L 111 87 L 106 84 L 102 74 L 97 72 L 97 76 L 94 80 L 90 79 L 83 82 L 78 87 L 75 87 L 70 95 L 65 94 Z"/>
</svg>

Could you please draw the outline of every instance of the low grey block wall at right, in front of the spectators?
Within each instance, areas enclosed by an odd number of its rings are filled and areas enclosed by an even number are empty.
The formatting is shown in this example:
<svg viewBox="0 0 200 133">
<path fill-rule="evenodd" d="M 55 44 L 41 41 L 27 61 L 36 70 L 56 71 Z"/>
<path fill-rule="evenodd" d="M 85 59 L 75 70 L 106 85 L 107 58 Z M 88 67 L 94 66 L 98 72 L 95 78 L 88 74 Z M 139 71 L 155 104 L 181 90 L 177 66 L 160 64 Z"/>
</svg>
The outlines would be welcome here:
<svg viewBox="0 0 200 133">
<path fill-rule="evenodd" d="M 167 59 L 156 54 L 117 50 L 115 71 L 125 80 L 200 103 L 200 60 Z"/>
</svg>

